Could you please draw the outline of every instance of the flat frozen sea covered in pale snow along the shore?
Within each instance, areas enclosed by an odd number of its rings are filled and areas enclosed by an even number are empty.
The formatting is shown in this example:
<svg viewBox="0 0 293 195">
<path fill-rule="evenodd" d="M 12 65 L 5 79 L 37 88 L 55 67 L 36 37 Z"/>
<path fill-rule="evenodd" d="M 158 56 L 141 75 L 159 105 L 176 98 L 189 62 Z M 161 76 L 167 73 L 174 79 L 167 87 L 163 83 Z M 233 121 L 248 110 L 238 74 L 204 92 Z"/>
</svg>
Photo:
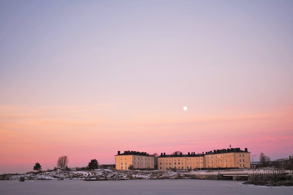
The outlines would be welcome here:
<svg viewBox="0 0 293 195">
<path fill-rule="evenodd" d="M 293 194 L 293 187 L 243 185 L 227 180 L 0 181 L 0 194 Z"/>
</svg>

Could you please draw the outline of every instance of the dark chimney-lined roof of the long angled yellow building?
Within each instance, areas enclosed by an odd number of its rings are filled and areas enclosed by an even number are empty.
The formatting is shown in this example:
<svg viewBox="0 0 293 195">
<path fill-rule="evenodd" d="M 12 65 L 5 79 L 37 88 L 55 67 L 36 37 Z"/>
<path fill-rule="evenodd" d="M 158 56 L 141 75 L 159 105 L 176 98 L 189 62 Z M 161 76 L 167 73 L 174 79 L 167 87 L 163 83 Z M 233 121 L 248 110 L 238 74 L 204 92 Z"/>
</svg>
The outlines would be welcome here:
<svg viewBox="0 0 293 195">
<path fill-rule="evenodd" d="M 210 155 L 210 154 L 237 153 L 237 152 L 248 153 L 247 148 L 245 148 L 245 150 L 241 150 L 240 148 L 228 148 L 228 149 L 209 151 L 202 154 L 195 154 L 195 152 L 192 152 L 191 154 L 164 155 L 163 153 L 161 153 L 161 155 L 158 157 L 200 157 L 200 156 L 202 157 L 202 156 Z"/>
</svg>

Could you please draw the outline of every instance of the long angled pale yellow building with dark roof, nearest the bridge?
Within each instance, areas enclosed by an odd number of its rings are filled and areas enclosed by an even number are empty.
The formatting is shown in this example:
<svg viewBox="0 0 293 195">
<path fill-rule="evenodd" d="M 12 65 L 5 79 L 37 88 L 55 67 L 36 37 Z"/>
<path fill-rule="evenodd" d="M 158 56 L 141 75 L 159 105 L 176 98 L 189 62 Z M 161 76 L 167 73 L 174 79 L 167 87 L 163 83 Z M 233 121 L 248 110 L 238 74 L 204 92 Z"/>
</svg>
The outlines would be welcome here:
<svg viewBox="0 0 293 195">
<path fill-rule="evenodd" d="M 202 152 L 202 154 L 189 152 L 188 154 L 166 155 L 161 153 L 158 157 L 158 170 L 217 167 L 250 168 L 250 152 L 247 151 L 247 148 L 244 151 L 240 148 L 228 148 Z"/>
</svg>

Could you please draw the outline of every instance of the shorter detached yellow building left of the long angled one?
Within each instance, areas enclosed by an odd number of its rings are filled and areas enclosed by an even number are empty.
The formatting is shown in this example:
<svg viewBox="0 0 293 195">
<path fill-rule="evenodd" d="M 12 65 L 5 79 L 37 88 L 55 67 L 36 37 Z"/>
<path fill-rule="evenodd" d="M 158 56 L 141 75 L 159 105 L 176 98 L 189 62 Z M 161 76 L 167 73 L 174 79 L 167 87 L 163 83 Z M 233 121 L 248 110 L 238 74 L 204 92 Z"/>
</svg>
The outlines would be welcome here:
<svg viewBox="0 0 293 195">
<path fill-rule="evenodd" d="M 115 167 L 117 170 L 128 170 L 133 165 L 134 169 L 154 169 L 154 157 L 146 152 L 124 151 L 115 155 Z"/>
</svg>

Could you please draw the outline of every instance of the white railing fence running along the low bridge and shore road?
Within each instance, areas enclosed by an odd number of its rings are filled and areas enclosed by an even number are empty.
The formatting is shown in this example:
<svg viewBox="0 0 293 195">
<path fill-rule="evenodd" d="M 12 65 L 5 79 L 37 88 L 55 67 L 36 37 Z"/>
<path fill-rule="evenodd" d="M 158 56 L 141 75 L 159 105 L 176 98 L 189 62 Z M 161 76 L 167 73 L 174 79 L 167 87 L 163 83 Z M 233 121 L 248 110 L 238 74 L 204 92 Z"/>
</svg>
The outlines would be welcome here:
<svg viewBox="0 0 293 195">
<path fill-rule="evenodd" d="M 229 175 L 263 175 L 263 174 L 280 174 L 280 173 L 293 173 L 291 170 L 282 171 L 212 171 L 212 172 L 184 172 L 186 175 L 218 175 L 218 174 L 229 174 Z"/>
</svg>

